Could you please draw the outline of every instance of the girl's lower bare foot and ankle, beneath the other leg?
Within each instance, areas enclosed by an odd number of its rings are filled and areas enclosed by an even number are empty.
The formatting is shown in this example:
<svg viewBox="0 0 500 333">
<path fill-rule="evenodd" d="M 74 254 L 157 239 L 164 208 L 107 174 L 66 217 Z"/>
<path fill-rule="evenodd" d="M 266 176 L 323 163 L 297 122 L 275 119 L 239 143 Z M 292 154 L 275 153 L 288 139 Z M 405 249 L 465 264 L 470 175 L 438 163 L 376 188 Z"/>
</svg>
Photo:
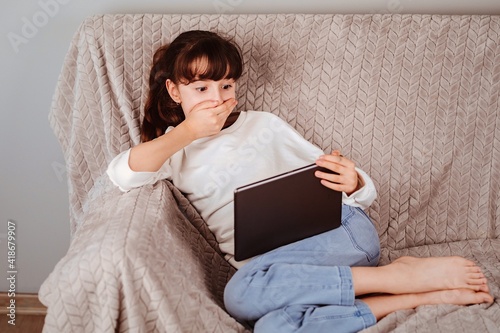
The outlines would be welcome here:
<svg viewBox="0 0 500 333">
<path fill-rule="evenodd" d="M 419 294 L 378 295 L 361 298 L 377 320 L 388 314 L 405 309 L 414 309 L 421 305 L 455 304 L 470 305 L 492 303 L 493 297 L 485 292 L 470 289 L 438 290 Z"/>
</svg>

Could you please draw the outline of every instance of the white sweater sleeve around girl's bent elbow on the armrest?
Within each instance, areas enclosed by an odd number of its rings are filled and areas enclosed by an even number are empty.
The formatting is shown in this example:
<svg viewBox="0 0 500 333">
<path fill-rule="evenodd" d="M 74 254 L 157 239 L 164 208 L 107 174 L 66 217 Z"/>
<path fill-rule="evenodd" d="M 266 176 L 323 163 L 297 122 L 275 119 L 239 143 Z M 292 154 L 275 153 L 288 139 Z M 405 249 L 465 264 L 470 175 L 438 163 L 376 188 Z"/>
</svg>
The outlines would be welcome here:
<svg viewBox="0 0 500 333">
<path fill-rule="evenodd" d="M 160 179 L 169 179 L 172 176 L 172 168 L 169 161 L 156 172 L 137 172 L 130 169 L 128 164 L 130 149 L 118 154 L 108 165 L 106 173 L 113 184 L 121 191 L 127 192 L 133 188 L 147 184 L 154 184 Z"/>
</svg>

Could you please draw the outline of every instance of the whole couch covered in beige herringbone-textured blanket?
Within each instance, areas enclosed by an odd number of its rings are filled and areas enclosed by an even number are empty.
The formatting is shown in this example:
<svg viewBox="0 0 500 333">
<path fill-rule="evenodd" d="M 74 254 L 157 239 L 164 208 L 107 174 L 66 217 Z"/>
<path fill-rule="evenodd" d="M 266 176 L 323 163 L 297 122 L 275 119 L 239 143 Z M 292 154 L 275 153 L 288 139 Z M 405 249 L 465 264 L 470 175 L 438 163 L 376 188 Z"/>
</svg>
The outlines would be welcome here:
<svg viewBox="0 0 500 333">
<path fill-rule="evenodd" d="M 366 332 L 500 332 L 500 17 L 398 14 L 86 19 L 49 115 L 71 245 L 39 292 L 44 332 L 250 331 L 224 310 L 235 270 L 183 194 L 168 181 L 122 193 L 105 175 L 139 143 L 155 49 L 189 29 L 241 46 L 240 110 L 272 112 L 371 175 L 381 265 L 464 256 L 496 298 L 398 311 Z"/>
</svg>

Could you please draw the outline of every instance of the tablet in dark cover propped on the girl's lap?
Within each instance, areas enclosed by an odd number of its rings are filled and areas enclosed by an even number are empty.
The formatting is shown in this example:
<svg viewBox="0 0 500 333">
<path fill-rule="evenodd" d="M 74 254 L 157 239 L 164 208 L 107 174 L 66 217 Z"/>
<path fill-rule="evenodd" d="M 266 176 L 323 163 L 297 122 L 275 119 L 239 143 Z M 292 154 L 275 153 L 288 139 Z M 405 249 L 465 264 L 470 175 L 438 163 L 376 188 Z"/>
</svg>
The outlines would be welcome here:
<svg viewBox="0 0 500 333">
<path fill-rule="evenodd" d="M 314 176 L 316 164 L 267 178 L 234 191 L 236 261 L 340 226 L 342 192 Z"/>
</svg>

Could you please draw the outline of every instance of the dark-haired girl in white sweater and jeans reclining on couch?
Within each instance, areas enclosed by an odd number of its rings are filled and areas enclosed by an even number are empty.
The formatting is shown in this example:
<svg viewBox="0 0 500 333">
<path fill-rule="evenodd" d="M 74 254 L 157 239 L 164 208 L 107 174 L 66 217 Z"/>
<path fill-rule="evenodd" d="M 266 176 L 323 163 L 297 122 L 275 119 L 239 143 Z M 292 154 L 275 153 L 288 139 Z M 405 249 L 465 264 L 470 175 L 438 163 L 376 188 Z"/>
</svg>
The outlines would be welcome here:
<svg viewBox="0 0 500 333">
<path fill-rule="evenodd" d="M 242 69 L 238 47 L 212 32 L 188 31 L 161 47 L 142 143 L 107 170 L 123 191 L 169 179 L 185 193 L 238 269 L 225 289 L 231 315 L 256 332 L 357 332 L 400 309 L 493 301 L 480 268 L 465 258 L 403 257 L 378 267 L 377 231 L 363 212 L 376 198 L 370 177 L 271 113 L 233 112 Z M 338 173 L 316 176 L 343 192 L 342 225 L 235 261 L 233 190 L 314 161 Z"/>
</svg>

